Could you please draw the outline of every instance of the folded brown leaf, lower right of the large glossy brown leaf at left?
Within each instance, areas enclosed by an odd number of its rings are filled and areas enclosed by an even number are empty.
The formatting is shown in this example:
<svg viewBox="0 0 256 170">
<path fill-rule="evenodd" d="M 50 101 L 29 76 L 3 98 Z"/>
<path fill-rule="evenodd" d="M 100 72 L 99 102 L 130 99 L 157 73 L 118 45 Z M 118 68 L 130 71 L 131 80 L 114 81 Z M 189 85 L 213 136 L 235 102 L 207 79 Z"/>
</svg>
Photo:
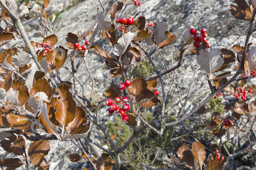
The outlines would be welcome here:
<svg viewBox="0 0 256 170">
<path fill-rule="evenodd" d="M 70 135 L 83 134 L 86 133 L 90 128 L 90 122 L 84 112 L 84 110 L 79 106 L 76 109 L 76 117 L 72 122 L 65 126 L 65 131 Z"/>
</svg>

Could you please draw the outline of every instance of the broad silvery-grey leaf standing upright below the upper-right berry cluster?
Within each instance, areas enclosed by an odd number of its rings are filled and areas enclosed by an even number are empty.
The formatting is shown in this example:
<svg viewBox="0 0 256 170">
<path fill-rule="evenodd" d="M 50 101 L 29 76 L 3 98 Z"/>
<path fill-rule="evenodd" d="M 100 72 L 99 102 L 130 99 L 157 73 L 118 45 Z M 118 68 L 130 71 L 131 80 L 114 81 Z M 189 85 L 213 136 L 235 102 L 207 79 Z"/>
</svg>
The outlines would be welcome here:
<svg viewBox="0 0 256 170">
<path fill-rule="evenodd" d="M 197 56 L 196 60 L 200 67 L 204 69 L 206 73 L 209 74 L 209 80 L 211 73 L 217 69 L 219 69 L 224 61 L 222 61 L 222 57 L 220 56 L 221 51 L 218 49 L 209 48 L 205 50 L 200 50 L 200 55 Z"/>
</svg>

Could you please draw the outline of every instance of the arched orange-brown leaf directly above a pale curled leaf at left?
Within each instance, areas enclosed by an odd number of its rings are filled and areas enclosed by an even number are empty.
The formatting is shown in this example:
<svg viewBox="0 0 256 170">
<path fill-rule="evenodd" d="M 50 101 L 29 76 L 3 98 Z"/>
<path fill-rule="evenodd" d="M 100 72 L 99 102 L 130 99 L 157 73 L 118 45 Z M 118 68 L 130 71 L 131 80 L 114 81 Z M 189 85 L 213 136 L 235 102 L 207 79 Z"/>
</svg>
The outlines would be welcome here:
<svg viewBox="0 0 256 170">
<path fill-rule="evenodd" d="M 46 96 L 48 96 L 48 100 L 51 99 L 52 87 L 44 77 L 34 83 L 29 94 L 34 97 L 40 91 L 44 92 Z"/>
</svg>

